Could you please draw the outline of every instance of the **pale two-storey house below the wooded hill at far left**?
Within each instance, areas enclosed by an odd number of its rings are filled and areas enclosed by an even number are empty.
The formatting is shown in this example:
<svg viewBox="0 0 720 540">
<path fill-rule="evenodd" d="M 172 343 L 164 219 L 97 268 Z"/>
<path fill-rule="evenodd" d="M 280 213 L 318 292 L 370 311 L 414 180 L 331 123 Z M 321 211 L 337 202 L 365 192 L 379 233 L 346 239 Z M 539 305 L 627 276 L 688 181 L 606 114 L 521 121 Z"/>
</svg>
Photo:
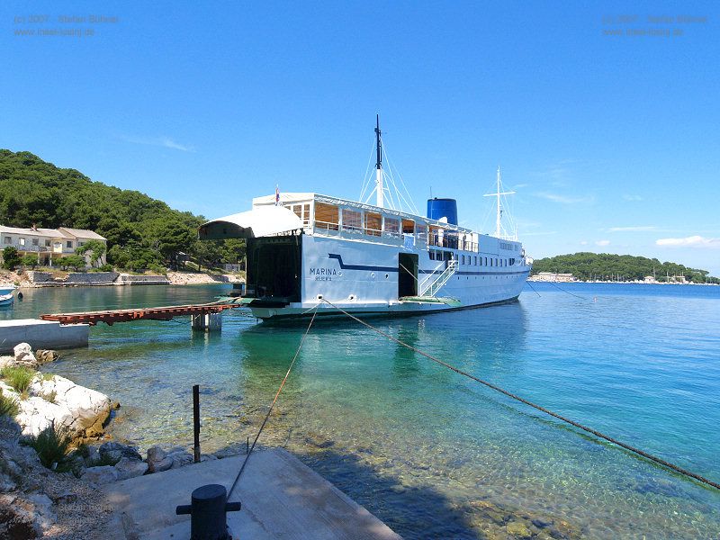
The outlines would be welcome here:
<svg viewBox="0 0 720 540">
<path fill-rule="evenodd" d="M 99 240 L 104 244 L 107 239 L 92 230 L 69 229 L 41 229 L 31 227 L 4 227 L 0 225 L 0 249 L 15 247 L 20 256 L 36 255 L 41 266 L 57 265 L 58 259 L 75 255 L 77 247 L 83 246 L 88 240 Z M 89 254 L 85 254 L 85 262 L 90 264 Z M 98 259 L 99 264 L 105 264 L 105 255 Z"/>
</svg>

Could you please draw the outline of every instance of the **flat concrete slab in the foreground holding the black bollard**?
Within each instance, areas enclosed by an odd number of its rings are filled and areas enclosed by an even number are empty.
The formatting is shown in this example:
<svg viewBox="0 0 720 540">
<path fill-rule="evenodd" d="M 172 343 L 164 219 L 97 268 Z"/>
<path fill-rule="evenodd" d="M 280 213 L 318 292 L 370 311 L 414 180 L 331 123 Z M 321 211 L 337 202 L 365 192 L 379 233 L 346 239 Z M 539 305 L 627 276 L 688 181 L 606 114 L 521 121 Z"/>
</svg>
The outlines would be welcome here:
<svg viewBox="0 0 720 540">
<path fill-rule="evenodd" d="M 190 504 L 195 488 L 218 483 L 229 490 L 244 455 L 186 465 L 104 488 L 121 514 L 116 538 L 190 538 L 190 517 L 175 507 Z M 282 448 L 253 453 L 230 500 L 233 538 L 288 540 L 401 540 L 392 529 Z M 120 526 L 120 524 L 118 524 Z"/>
</svg>

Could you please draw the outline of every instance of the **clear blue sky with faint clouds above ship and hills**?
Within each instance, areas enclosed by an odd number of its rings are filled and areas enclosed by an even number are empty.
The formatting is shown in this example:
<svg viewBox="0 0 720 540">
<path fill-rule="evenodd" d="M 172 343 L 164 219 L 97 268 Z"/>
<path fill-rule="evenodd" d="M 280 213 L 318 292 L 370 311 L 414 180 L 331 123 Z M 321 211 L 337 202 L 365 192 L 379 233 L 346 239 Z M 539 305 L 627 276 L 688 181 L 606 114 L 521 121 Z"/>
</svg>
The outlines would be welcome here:
<svg viewBox="0 0 720 540">
<path fill-rule="evenodd" d="M 420 211 L 720 275 L 720 4 L 602 4 L 4 2 L 0 148 L 214 218 L 356 200 L 379 113 Z"/>
</svg>

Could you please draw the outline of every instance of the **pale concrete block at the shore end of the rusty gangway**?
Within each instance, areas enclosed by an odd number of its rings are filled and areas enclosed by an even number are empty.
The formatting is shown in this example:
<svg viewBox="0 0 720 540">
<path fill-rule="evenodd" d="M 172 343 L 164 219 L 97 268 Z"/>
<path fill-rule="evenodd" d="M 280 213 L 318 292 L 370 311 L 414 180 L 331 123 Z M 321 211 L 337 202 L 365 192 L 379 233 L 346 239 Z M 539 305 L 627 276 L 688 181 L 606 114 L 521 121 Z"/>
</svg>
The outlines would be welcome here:
<svg viewBox="0 0 720 540">
<path fill-rule="evenodd" d="M 18 343 L 29 343 L 33 349 L 87 347 L 90 327 L 86 324 L 64 324 L 54 320 L 0 320 L 0 353 L 12 352 Z"/>
</svg>

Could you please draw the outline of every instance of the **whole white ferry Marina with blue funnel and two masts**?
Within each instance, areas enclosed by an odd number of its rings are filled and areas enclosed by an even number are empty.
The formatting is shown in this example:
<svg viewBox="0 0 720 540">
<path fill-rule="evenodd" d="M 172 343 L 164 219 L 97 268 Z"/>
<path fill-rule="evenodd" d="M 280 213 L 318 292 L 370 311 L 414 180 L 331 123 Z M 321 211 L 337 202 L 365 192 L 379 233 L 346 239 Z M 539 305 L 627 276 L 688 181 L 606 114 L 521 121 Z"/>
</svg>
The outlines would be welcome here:
<svg viewBox="0 0 720 540">
<path fill-rule="evenodd" d="M 502 234 L 500 169 L 494 235 L 460 227 L 454 199 L 428 200 L 427 216 L 389 208 L 379 122 L 375 132 L 375 204 L 276 190 L 253 199 L 252 210 L 200 228 L 201 239 L 246 238 L 238 302 L 257 318 L 339 315 L 338 308 L 412 315 L 518 299 L 532 259 L 517 236 Z"/>
</svg>

